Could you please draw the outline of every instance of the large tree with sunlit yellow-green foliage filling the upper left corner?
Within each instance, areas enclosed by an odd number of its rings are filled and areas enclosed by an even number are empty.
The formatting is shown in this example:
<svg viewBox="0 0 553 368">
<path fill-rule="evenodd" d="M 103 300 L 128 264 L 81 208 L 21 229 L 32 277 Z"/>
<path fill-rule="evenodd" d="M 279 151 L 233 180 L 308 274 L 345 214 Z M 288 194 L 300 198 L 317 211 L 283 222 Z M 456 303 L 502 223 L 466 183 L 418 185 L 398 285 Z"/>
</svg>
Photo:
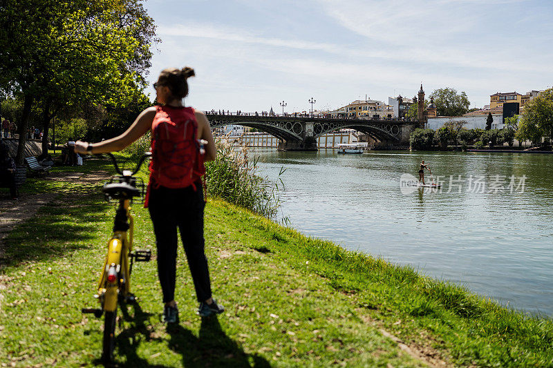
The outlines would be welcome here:
<svg viewBox="0 0 553 368">
<path fill-rule="evenodd" d="M 85 101 L 124 104 L 140 92 L 144 84 L 140 72 L 149 66 L 149 40 L 155 27 L 139 0 L 4 3 L 0 88 L 23 100 L 17 164 L 23 162 L 35 103 L 41 105 L 48 126 L 65 106 Z"/>
</svg>

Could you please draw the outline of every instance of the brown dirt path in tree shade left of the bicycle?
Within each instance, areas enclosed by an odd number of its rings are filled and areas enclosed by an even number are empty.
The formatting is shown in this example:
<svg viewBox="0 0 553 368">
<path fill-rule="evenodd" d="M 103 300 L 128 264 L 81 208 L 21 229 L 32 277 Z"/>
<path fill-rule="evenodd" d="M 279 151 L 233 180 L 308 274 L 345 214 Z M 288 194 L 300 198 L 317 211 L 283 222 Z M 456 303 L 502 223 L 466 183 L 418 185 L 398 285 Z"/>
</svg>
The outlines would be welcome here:
<svg viewBox="0 0 553 368">
<path fill-rule="evenodd" d="M 83 184 L 100 183 L 110 177 L 107 171 L 93 171 L 91 173 L 50 173 L 44 180 L 58 182 L 72 182 Z M 37 211 L 46 204 L 55 200 L 61 193 L 23 194 L 19 200 L 10 200 L 6 195 L 0 197 L 0 258 L 3 255 L 3 239 L 15 226 L 35 216 Z"/>
</svg>

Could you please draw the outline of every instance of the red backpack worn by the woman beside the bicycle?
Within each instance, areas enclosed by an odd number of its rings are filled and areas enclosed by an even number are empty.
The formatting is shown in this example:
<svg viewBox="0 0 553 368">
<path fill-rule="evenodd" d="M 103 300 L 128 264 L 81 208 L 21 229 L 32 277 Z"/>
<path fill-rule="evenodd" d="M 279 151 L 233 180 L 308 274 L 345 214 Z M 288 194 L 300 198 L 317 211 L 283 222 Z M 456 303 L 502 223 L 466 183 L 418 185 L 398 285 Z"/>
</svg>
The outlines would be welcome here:
<svg viewBox="0 0 553 368">
<path fill-rule="evenodd" d="M 150 185 L 186 188 L 205 174 L 194 108 L 156 106 L 151 124 Z"/>
</svg>

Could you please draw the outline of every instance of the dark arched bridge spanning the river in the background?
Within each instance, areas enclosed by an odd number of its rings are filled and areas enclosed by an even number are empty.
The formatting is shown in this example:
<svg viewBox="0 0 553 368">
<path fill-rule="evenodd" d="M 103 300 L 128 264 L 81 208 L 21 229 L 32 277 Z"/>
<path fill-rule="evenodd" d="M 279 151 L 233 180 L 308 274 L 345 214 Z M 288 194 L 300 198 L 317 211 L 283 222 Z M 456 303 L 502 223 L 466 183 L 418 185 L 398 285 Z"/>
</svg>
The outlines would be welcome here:
<svg viewBox="0 0 553 368">
<path fill-rule="evenodd" d="M 377 142 L 408 146 L 409 135 L 420 127 L 418 121 L 390 119 L 343 119 L 293 116 L 252 116 L 206 114 L 212 128 L 237 124 L 256 128 L 280 139 L 279 150 L 317 151 L 317 138 L 333 130 L 351 128 Z"/>
</svg>

